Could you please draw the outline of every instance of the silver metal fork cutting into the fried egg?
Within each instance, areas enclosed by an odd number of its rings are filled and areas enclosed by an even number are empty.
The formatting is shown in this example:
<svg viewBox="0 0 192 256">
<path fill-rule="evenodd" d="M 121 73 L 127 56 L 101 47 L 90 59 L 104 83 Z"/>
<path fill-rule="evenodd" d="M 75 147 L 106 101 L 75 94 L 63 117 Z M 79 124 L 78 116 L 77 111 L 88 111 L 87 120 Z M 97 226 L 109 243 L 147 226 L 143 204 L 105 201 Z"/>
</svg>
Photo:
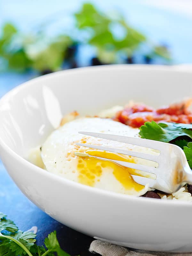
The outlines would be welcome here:
<svg viewBox="0 0 192 256">
<path fill-rule="evenodd" d="M 124 142 L 132 145 L 137 145 L 146 148 L 153 148 L 160 151 L 158 156 L 150 155 L 147 153 L 134 152 L 132 150 L 124 150 L 118 148 L 110 148 L 98 145 L 76 143 L 79 146 L 84 146 L 88 148 L 96 148 L 105 151 L 120 153 L 128 156 L 135 156 L 147 160 L 151 160 L 158 163 L 158 167 L 148 167 L 142 164 L 128 163 L 124 161 L 112 160 L 108 158 L 91 156 L 88 154 L 82 154 L 76 152 L 77 156 L 89 156 L 95 157 L 101 160 L 112 161 L 116 164 L 123 165 L 125 167 L 133 168 L 136 170 L 150 172 L 156 175 L 156 179 L 150 179 L 146 177 L 132 175 L 133 179 L 141 184 L 149 184 L 150 188 L 155 188 L 166 193 L 174 193 L 178 191 L 186 183 L 192 184 L 192 171 L 188 165 L 186 156 L 183 150 L 173 144 L 160 142 L 156 140 L 147 140 L 140 138 L 125 137 L 119 135 L 111 135 L 105 133 L 96 133 L 96 132 L 79 132 L 84 135 L 93 136 L 97 138 L 115 140 L 119 142 Z"/>
</svg>

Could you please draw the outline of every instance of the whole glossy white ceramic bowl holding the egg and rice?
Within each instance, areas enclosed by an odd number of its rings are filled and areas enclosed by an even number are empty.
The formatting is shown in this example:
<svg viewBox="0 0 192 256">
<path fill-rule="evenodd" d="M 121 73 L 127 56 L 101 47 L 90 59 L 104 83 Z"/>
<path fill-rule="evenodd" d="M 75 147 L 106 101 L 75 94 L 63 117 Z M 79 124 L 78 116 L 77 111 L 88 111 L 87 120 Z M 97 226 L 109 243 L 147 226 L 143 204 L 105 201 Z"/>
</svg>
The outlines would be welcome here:
<svg viewBox="0 0 192 256">
<path fill-rule="evenodd" d="M 20 190 L 55 220 L 132 248 L 191 252 L 192 204 L 133 197 L 60 178 L 25 160 L 62 114 L 142 101 L 159 107 L 192 95 L 192 73 L 172 67 L 114 65 L 35 78 L 0 100 L 0 155 Z"/>
</svg>

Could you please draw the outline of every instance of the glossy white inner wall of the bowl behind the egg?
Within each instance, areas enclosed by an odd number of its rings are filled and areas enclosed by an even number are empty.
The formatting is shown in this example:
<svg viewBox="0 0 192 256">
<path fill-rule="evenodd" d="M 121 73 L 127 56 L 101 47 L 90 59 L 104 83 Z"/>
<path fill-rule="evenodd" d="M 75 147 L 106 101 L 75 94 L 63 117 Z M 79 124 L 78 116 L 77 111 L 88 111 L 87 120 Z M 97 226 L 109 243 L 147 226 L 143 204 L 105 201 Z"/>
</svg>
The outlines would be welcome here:
<svg viewBox="0 0 192 256">
<path fill-rule="evenodd" d="M 192 73 L 171 67 L 111 65 L 33 79 L 0 100 L 0 139 L 20 156 L 40 145 L 62 115 L 97 114 L 129 100 L 154 107 L 192 95 Z"/>
</svg>

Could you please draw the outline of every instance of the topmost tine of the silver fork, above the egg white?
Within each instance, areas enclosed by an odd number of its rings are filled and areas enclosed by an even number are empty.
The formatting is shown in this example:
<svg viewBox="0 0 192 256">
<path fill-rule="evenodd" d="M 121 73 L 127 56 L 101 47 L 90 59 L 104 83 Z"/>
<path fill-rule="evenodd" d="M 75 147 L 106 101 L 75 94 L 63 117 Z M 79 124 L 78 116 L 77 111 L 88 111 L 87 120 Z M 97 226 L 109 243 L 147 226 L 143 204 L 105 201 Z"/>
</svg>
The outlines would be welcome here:
<svg viewBox="0 0 192 256">
<path fill-rule="evenodd" d="M 88 136 L 106 139 L 106 140 L 115 140 L 115 141 L 124 142 L 124 143 L 137 145 L 141 147 L 153 148 L 157 150 L 162 150 L 165 147 L 164 142 L 160 142 L 156 140 L 147 140 L 147 139 L 133 138 L 133 137 L 106 134 L 106 133 L 97 133 L 97 132 L 79 132 L 79 133 L 88 135 Z"/>
</svg>

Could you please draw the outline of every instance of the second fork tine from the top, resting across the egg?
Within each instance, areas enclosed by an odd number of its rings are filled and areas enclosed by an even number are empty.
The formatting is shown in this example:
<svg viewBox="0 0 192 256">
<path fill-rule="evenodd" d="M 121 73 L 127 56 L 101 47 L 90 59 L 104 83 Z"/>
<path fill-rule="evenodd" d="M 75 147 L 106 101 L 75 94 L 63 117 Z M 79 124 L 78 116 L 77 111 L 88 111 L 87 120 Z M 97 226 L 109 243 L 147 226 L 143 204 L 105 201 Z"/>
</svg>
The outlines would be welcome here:
<svg viewBox="0 0 192 256">
<path fill-rule="evenodd" d="M 150 154 L 146 154 L 146 153 L 141 153 L 141 152 L 134 152 L 132 150 L 103 147 L 103 146 L 84 144 L 84 143 L 76 143 L 76 145 L 84 146 L 84 147 L 87 147 L 87 148 L 101 149 L 101 150 L 115 152 L 115 153 L 124 154 L 124 155 L 128 155 L 128 156 L 135 156 L 135 157 L 147 159 L 147 160 L 154 161 L 154 162 L 156 162 L 157 159 L 158 159 L 158 156 L 150 155 Z"/>
</svg>

